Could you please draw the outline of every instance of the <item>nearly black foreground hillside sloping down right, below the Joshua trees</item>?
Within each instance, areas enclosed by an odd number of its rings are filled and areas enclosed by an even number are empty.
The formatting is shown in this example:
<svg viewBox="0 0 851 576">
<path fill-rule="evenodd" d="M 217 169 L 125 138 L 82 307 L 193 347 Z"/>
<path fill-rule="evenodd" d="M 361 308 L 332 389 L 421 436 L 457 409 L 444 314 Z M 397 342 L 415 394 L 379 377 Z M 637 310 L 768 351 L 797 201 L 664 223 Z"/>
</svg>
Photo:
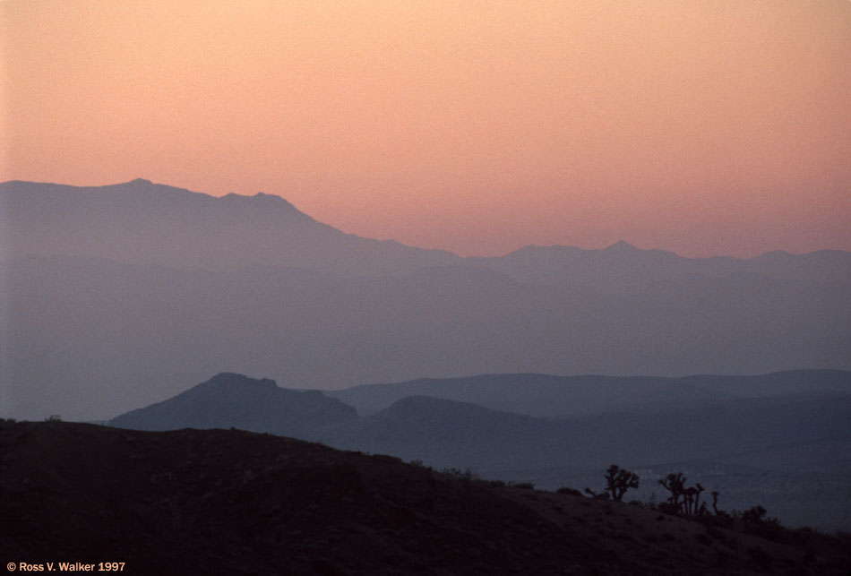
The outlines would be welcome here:
<svg viewBox="0 0 851 576">
<path fill-rule="evenodd" d="M 274 435 L 3 422 L 0 458 L 7 563 L 116 561 L 130 574 L 851 569 L 847 542 L 812 531 L 725 528 Z"/>
</svg>

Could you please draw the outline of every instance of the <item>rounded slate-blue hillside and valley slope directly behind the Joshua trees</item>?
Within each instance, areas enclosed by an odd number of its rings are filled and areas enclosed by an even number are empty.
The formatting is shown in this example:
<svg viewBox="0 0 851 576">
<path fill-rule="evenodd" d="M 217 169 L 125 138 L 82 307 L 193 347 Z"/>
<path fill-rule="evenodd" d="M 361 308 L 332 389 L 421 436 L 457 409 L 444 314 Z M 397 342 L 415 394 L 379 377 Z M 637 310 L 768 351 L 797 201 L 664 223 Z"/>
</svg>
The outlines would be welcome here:
<svg viewBox="0 0 851 576">
<path fill-rule="evenodd" d="M 761 503 L 789 526 L 851 527 L 851 399 L 834 394 L 734 399 L 695 408 L 546 420 L 453 400 L 409 397 L 326 429 L 331 446 L 470 468 L 555 489 L 594 486 L 618 462 L 651 478 L 683 471 L 731 508 Z"/>
</svg>

